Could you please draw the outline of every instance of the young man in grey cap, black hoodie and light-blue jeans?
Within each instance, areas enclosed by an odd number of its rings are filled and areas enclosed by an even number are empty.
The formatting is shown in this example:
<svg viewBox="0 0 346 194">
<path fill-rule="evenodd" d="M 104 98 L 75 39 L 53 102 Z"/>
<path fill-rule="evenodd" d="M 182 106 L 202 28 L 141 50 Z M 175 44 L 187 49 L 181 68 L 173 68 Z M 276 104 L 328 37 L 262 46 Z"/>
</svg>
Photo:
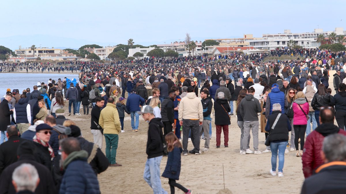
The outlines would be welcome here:
<svg viewBox="0 0 346 194">
<path fill-rule="evenodd" d="M 154 193 L 167 193 L 162 188 L 160 180 L 160 164 L 163 155 L 163 124 L 161 118 L 155 118 L 153 112 L 153 108 L 149 105 L 143 106 L 142 111 L 139 112 L 145 121 L 149 121 L 146 146 L 148 159 L 145 163 L 143 178 L 153 188 Z M 151 181 L 151 179 L 155 181 Z"/>
</svg>

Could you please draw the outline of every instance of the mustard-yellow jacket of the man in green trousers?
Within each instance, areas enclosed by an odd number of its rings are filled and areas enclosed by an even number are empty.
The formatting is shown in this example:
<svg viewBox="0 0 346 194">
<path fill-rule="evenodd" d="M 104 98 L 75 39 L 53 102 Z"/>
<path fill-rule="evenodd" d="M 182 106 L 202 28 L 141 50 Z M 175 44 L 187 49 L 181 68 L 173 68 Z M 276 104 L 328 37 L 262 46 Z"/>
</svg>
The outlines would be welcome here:
<svg viewBox="0 0 346 194">
<path fill-rule="evenodd" d="M 99 124 L 103 128 L 103 134 L 119 134 L 121 126 L 118 110 L 114 104 L 107 103 L 101 110 Z"/>
</svg>

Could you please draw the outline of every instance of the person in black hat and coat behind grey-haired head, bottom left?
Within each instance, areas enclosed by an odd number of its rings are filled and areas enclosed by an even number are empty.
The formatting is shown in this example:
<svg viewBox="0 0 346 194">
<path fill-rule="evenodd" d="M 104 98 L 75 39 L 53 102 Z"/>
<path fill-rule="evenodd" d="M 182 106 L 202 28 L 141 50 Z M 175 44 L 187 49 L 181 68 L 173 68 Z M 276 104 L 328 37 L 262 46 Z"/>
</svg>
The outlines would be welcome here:
<svg viewBox="0 0 346 194">
<path fill-rule="evenodd" d="M 46 166 L 38 163 L 34 157 L 35 146 L 31 141 L 23 141 L 17 150 L 18 161 L 3 170 L 0 176 L 0 194 L 14 194 L 15 188 L 12 185 L 12 173 L 21 164 L 27 163 L 35 166 L 40 182 L 38 183 L 35 194 L 56 194 L 54 181 L 51 172 Z"/>
</svg>

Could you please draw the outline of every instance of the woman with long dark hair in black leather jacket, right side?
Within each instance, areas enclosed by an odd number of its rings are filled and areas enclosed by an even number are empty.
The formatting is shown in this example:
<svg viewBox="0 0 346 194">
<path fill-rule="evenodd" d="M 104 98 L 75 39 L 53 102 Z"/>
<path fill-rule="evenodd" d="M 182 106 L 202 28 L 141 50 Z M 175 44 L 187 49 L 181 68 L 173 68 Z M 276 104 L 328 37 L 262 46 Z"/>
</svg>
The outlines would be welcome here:
<svg viewBox="0 0 346 194">
<path fill-rule="evenodd" d="M 311 101 L 311 107 L 315 110 L 315 119 L 317 126 L 320 126 L 320 107 L 330 106 L 331 99 L 333 97 L 327 92 L 326 87 L 323 84 L 319 84 L 317 92 L 313 95 Z"/>
</svg>

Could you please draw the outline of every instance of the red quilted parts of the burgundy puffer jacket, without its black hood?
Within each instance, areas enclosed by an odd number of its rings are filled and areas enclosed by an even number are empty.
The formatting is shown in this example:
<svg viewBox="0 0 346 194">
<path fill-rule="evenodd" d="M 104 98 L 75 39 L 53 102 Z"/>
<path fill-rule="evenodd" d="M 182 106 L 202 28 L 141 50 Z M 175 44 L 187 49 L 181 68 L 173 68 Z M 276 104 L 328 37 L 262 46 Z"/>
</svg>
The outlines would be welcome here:
<svg viewBox="0 0 346 194">
<path fill-rule="evenodd" d="M 338 133 L 346 136 L 345 130 L 339 129 Z M 305 178 L 311 176 L 313 170 L 324 164 L 324 161 L 321 158 L 321 150 L 324 138 L 325 136 L 316 130 L 312 131 L 306 138 L 304 144 L 304 154 L 302 156 L 303 173 Z"/>
</svg>

